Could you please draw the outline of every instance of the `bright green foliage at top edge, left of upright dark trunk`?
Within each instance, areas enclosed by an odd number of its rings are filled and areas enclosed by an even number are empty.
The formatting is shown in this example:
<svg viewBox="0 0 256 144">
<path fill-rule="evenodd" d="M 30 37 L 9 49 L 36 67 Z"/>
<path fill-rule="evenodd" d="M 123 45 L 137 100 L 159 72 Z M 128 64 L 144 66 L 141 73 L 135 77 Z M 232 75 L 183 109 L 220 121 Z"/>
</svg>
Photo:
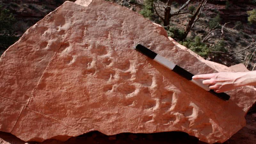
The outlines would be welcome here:
<svg viewBox="0 0 256 144">
<path fill-rule="evenodd" d="M 154 0 L 145 0 L 143 9 L 140 11 L 140 14 L 143 15 L 145 18 L 151 19 L 153 13 L 154 13 L 154 7 L 153 7 Z"/>
</svg>

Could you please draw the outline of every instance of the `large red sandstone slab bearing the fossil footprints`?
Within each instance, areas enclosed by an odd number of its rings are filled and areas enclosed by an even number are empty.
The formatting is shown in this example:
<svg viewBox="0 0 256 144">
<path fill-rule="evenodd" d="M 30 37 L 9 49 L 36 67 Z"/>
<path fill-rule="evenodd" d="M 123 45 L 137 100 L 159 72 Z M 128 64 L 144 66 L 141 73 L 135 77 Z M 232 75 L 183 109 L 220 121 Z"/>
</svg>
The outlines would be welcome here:
<svg viewBox="0 0 256 144">
<path fill-rule="evenodd" d="M 232 71 L 124 7 L 65 2 L 0 58 L 0 130 L 24 141 L 183 131 L 214 143 L 245 125 L 255 89 L 223 101 L 135 51 L 138 43 L 193 74 Z"/>
</svg>

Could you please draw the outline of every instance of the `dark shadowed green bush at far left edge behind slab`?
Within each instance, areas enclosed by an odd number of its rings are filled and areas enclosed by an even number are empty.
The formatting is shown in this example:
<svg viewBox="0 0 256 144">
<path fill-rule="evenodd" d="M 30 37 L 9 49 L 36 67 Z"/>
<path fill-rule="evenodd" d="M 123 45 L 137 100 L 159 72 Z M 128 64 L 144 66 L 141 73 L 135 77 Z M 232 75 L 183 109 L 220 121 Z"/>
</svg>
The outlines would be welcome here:
<svg viewBox="0 0 256 144">
<path fill-rule="evenodd" d="M 13 24 L 15 18 L 10 10 L 0 5 L 0 49 L 6 50 L 10 45 L 14 44 L 18 37 L 14 36 Z"/>
</svg>

